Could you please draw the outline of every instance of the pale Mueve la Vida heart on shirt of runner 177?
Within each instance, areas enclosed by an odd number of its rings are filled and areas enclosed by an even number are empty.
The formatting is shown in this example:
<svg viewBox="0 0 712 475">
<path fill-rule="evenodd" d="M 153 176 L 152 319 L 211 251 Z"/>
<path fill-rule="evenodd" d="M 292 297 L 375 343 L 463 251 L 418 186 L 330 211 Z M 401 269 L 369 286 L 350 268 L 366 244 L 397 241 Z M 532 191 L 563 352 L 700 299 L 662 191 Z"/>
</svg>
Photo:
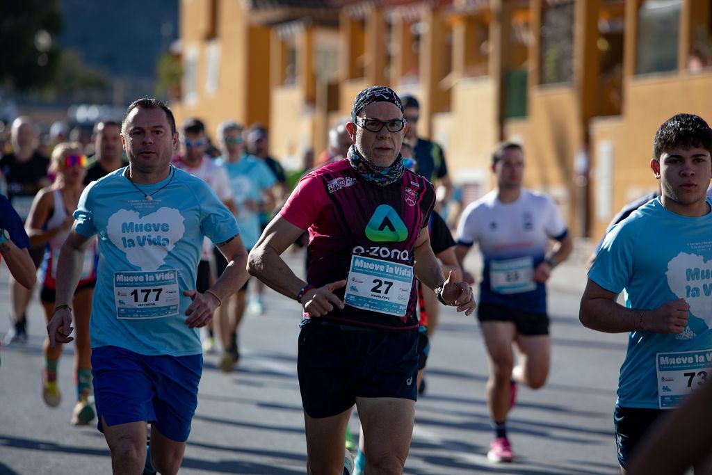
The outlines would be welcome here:
<svg viewBox="0 0 712 475">
<path fill-rule="evenodd" d="M 142 271 L 154 271 L 183 237 L 183 221 L 174 208 L 162 207 L 146 216 L 120 209 L 109 218 L 107 228 L 109 239 L 126 253 L 130 263 Z"/>
</svg>

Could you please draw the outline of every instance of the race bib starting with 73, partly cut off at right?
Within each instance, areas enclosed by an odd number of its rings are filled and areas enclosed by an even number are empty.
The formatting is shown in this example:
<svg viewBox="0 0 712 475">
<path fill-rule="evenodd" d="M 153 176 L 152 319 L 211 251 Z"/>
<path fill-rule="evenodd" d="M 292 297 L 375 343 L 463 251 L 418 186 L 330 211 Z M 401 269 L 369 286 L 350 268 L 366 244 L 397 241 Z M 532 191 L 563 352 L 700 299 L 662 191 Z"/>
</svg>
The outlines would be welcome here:
<svg viewBox="0 0 712 475">
<path fill-rule="evenodd" d="M 673 409 L 706 382 L 711 374 L 712 350 L 658 353 L 655 368 L 660 409 Z"/>
</svg>

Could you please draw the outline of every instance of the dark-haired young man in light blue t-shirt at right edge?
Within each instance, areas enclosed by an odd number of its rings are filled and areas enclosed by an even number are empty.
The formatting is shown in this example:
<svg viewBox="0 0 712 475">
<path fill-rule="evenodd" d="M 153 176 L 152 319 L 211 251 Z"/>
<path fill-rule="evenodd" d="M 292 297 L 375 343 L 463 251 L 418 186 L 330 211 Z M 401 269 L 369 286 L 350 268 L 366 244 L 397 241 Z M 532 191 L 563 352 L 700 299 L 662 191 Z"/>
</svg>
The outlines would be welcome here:
<svg viewBox="0 0 712 475">
<path fill-rule="evenodd" d="M 663 409 L 677 407 L 712 367 L 711 153 L 712 130 L 698 116 L 661 125 L 650 161 L 661 197 L 607 233 L 581 299 L 585 326 L 629 332 L 614 412 L 622 473 Z"/>
</svg>

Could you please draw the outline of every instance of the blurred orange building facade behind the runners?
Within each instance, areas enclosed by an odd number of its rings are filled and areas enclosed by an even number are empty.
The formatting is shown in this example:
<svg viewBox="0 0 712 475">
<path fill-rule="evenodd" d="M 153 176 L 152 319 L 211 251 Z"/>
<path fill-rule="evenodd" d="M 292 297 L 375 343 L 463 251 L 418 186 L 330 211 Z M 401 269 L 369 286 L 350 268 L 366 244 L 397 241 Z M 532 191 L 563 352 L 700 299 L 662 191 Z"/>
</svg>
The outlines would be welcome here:
<svg viewBox="0 0 712 475">
<path fill-rule="evenodd" d="M 419 98 L 465 202 L 493 186 L 494 145 L 518 140 L 526 186 L 575 236 L 656 188 L 661 122 L 712 121 L 712 0 L 182 0 L 181 15 L 179 120 L 262 122 L 298 168 L 386 84 Z"/>
</svg>

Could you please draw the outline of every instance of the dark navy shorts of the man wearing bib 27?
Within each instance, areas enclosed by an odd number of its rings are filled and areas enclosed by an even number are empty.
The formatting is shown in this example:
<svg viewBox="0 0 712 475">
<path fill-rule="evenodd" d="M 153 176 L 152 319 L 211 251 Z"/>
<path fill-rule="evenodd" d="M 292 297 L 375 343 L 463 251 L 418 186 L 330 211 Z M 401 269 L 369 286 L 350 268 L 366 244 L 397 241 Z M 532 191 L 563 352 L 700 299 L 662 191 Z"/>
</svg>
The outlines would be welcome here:
<svg viewBox="0 0 712 475">
<path fill-rule="evenodd" d="M 305 412 L 344 412 L 356 397 L 417 400 L 417 329 L 361 330 L 310 322 L 299 334 L 297 375 Z"/>
</svg>

